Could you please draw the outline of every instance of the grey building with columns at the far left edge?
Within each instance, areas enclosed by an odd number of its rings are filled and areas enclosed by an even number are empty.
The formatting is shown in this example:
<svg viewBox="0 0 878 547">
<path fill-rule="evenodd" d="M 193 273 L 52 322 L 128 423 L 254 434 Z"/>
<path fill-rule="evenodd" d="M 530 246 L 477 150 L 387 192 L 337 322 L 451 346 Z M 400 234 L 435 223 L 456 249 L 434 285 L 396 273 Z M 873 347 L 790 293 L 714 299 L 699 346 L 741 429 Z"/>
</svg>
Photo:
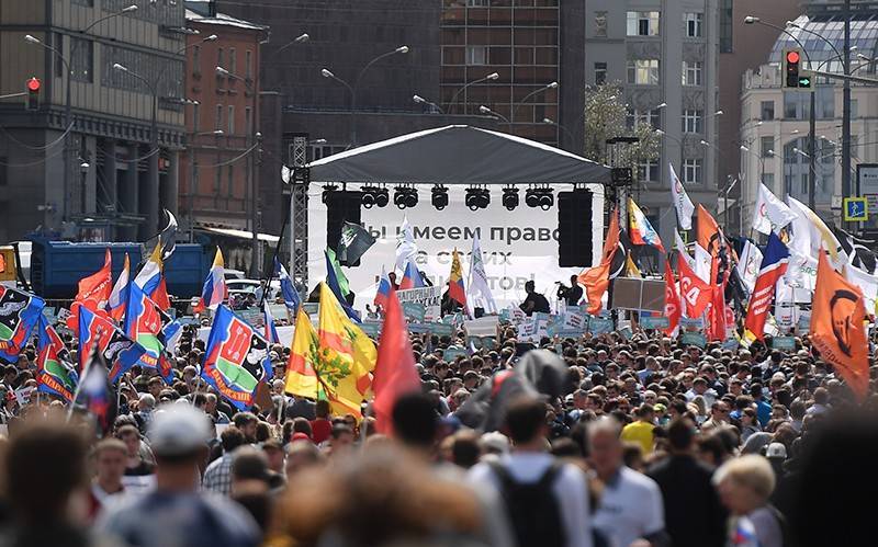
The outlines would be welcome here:
<svg viewBox="0 0 878 547">
<path fill-rule="evenodd" d="M 143 240 L 177 212 L 184 25 L 171 0 L 3 1 L 0 94 L 42 87 L 0 102 L 0 240 Z"/>
</svg>

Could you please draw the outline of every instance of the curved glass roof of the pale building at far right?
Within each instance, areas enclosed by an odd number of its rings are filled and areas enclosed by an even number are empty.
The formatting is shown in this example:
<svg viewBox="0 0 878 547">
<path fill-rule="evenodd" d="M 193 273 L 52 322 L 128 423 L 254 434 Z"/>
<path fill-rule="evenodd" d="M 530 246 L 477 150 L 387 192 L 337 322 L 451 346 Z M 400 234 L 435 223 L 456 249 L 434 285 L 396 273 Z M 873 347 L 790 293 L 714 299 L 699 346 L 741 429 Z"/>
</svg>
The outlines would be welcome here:
<svg viewBox="0 0 878 547">
<path fill-rule="evenodd" d="M 843 72 L 842 60 L 836 54 L 836 49 L 842 52 L 844 49 L 844 21 L 840 15 L 815 15 L 809 18 L 801 15 L 793 24 L 787 25 L 787 31 L 796 36 L 799 42 L 804 46 L 804 50 L 810 56 L 813 68 L 825 70 L 828 72 Z M 832 46 L 818 36 L 819 34 L 826 38 Z M 863 55 L 869 59 L 874 59 L 878 55 L 878 13 L 874 14 L 857 14 L 851 21 L 851 46 L 856 47 L 851 52 L 851 70 L 854 70 L 858 65 L 865 61 L 858 55 Z M 780 56 L 785 49 L 799 48 L 795 39 L 785 33 L 780 33 L 772 54 L 768 57 L 768 62 L 780 64 Z M 808 66 L 807 61 L 803 64 Z M 864 66 L 860 72 L 875 72 L 875 66 Z"/>
</svg>

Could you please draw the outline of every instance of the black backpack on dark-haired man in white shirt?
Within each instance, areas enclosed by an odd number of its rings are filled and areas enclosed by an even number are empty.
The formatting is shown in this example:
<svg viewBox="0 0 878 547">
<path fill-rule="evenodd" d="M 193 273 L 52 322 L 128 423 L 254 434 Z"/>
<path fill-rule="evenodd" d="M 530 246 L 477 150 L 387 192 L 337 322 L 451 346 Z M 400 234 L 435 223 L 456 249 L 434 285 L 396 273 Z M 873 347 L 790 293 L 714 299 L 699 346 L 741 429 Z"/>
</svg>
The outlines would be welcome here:
<svg viewBox="0 0 878 547">
<path fill-rule="evenodd" d="M 552 491 L 561 463 L 553 461 L 537 482 L 517 482 L 502 464 L 488 464 L 500 482 L 506 514 L 520 547 L 563 547 L 561 508 Z"/>
</svg>

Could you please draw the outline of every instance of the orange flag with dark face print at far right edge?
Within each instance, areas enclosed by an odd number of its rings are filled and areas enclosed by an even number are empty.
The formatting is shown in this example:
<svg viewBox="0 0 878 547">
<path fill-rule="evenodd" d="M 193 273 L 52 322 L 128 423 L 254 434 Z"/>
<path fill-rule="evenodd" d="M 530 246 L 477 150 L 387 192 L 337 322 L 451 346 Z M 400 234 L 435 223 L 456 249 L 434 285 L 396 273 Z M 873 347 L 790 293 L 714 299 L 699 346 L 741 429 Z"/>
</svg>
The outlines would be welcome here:
<svg viewBox="0 0 878 547">
<path fill-rule="evenodd" d="M 811 310 L 811 342 L 859 400 L 869 390 L 869 343 L 863 301 L 859 287 L 838 274 L 821 252 Z"/>
</svg>

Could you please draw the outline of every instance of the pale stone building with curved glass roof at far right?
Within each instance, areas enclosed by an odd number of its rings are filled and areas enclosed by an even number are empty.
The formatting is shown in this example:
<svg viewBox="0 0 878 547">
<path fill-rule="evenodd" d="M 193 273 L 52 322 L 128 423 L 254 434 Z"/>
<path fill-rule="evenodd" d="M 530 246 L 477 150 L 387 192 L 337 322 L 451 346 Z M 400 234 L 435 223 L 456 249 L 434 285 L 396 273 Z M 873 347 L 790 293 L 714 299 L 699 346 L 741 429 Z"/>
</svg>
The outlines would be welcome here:
<svg viewBox="0 0 878 547">
<path fill-rule="evenodd" d="M 828 72 L 843 71 L 835 49 L 823 41 L 809 38 L 809 32 L 826 36 L 833 46 L 844 48 L 837 12 L 809 8 L 809 16 L 796 20 L 803 30 L 790 29 L 793 36 L 806 45 L 807 56 L 814 68 Z M 878 10 L 862 10 L 851 23 L 851 71 L 856 76 L 874 78 L 878 54 Z M 744 226 L 753 218 L 753 206 L 758 181 L 777 196 L 787 194 L 806 205 L 809 203 L 810 101 L 813 95 L 815 112 L 814 141 L 814 205 L 817 213 L 841 226 L 842 198 L 842 83 L 817 78 L 813 93 L 781 88 L 780 60 L 785 49 L 797 47 L 787 35 L 776 36 L 769 62 L 743 77 L 741 96 L 741 215 Z M 859 57 L 863 56 L 863 57 Z M 865 58 L 865 60 L 864 60 Z M 807 66 L 807 61 L 806 61 Z M 851 86 L 851 158 L 852 195 L 858 195 L 856 169 L 859 163 L 878 162 L 878 103 L 873 87 Z M 871 225 L 874 226 L 874 221 Z"/>
</svg>

